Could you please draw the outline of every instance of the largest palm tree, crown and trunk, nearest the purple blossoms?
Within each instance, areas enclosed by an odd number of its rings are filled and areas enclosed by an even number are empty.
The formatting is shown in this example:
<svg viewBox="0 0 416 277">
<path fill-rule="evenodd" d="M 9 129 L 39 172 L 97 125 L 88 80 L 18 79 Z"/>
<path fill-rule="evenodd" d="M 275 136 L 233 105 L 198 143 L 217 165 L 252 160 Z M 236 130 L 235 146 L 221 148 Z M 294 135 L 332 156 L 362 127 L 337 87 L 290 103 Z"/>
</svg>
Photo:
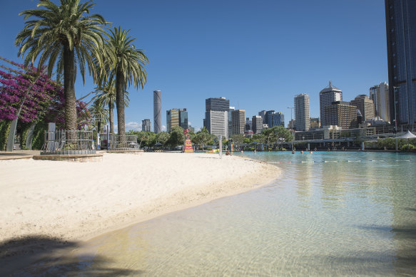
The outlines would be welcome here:
<svg viewBox="0 0 416 277">
<path fill-rule="evenodd" d="M 107 22 L 99 14 L 89 14 L 94 6 L 92 1 L 80 4 L 80 0 L 61 0 L 56 6 L 50 0 L 39 2 L 38 7 L 22 11 L 25 26 L 16 36 L 15 44 L 20 46 L 18 56 L 24 55 L 25 66 L 34 64 L 39 58 L 41 68 L 48 62 L 48 74 L 56 67 L 58 79 L 64 75 L 65 127 L 76 130 L 75 78 L 77 69 L 85 81 L 86 66 L 97 80 L 98 70 L 103 64 L 103 25 Z M 29 18 L 35 18 L 28 20 Z"/>
</svg>

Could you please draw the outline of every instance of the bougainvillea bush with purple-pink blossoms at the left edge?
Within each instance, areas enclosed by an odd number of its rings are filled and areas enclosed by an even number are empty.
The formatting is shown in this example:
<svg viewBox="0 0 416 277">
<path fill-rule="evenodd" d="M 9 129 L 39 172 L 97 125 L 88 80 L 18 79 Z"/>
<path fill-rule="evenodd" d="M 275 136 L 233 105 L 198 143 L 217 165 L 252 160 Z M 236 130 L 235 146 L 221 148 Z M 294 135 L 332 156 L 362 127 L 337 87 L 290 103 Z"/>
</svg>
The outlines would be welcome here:
<svg viewBox="0 0 416 277">
<path fill-rule="evenodd" d="M 0 60 L 7 64 L 0 65 L 1 125 L 15 120 L 21 108 L 19 125 L 30 126 L 26 124 L 28 122 L 56 122 L 57 128 L 64 128 L 65 98 L 62 85 L 48 78 L 46 74 L 39 73 L 37 68 L 26 68 L 1 57 Z M 78 129 L 90 122 L 91 115 L 86 106 L 83 101 L 77 101 Z M 8 132 L 7 128 L 3 129 L 2 132 Z M 0 140 L 7 136 L 2 134 Z M 4 145 L 5 142 L 0 141 L 0 150 L 3 150 Z"/>
</svg>

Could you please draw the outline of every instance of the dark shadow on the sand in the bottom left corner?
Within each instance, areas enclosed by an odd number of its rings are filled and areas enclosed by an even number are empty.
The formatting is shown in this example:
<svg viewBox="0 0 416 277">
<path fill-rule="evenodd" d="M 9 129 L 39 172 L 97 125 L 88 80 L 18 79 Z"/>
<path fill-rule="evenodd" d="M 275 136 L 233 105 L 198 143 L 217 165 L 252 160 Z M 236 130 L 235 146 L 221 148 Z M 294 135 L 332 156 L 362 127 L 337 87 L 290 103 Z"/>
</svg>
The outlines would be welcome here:
<svg viewBox="0 0 416 277">
<path fill-rule="evenodd" d="M 67 256 L 78 243 L 46 236 L 26 236 L 0 244 L 1 276 L 137 276 L 143 271 L 111 266 L 99 255 Z"/>
</svg>

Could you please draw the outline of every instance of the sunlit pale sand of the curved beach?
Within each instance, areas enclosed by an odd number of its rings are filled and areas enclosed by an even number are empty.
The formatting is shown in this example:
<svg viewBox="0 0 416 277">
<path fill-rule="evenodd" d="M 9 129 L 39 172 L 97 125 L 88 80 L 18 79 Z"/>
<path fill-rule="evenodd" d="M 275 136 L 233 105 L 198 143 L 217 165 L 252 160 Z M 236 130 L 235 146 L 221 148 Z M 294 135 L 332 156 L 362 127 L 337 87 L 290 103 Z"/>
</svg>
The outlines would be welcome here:
<svg viewBox="0 0 416 277">
<path fill-rule="evenodd" d="M 88 239 L 253 189 L 278 167 L 210 154 L 104 154 L 103 162 L 0 161 L 0 241 Z"/>
</svg>

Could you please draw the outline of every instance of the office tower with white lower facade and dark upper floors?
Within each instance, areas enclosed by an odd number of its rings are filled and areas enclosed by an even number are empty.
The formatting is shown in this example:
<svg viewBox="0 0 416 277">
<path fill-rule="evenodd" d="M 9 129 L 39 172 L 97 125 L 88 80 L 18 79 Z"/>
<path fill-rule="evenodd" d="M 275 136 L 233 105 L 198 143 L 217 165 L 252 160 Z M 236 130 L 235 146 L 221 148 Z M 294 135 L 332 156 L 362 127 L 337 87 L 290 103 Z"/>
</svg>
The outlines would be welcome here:
<svg viewBox="0 0 416 277">
<path fill-rule="evenodd" d="M 228 110 L 230 100 L 221 98 L 208 98 L 205 100 L 205 124 L 212 135 L 222 135 L 228 138 Z"/>
</svg>

